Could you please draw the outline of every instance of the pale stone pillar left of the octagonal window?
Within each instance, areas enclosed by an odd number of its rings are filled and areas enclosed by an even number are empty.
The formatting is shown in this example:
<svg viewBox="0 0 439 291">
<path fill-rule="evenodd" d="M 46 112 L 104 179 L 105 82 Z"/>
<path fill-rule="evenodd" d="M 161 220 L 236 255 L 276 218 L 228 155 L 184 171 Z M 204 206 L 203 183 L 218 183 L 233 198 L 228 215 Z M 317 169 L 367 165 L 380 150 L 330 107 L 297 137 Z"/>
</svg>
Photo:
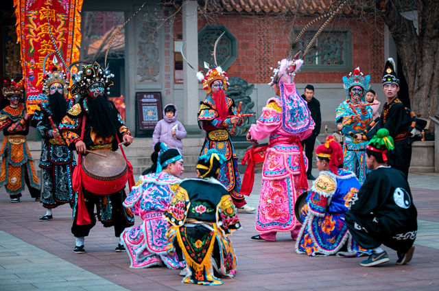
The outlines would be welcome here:
<svg viewBox="0 0 439 291">
<path fill-rule="evenodd" d="M 197 2 L 186 0 L 182 4 L 183 17 L 183 42 L 186 43 L 185 57 L 187 61 L 198 69 L 198 15 Z M 189 134 L 200 132 L 197 123 L 197 113 L 199 107 L 198 100 L 198 79 L 195 71 L 186 62 L 183 62 L 183 95 L 185 97 L 185 128 Z"/>
</svg>

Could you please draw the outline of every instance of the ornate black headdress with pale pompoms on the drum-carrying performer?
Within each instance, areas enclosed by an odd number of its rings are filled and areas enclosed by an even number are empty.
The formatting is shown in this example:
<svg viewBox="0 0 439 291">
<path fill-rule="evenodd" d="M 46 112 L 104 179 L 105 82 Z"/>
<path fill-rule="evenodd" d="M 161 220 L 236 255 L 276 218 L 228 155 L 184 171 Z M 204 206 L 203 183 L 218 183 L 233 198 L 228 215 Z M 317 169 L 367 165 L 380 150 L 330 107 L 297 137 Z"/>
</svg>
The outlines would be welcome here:
<svg viewBox="0 0 439 291">
<path fill-rule="evenodd" d="M 100 83 L 104 85 L 107 94 L 109 94 L 110 86 L 115 84 L 111 80 L 114 76 L 108 69 L 102 69 L 97 62 L 85 65 L 78 74 L 73 75 L 73 86 L 71 86 L 70 93 L 72 96 L 82 97 L 86 95 L 89 86 Z"/>
</svg>

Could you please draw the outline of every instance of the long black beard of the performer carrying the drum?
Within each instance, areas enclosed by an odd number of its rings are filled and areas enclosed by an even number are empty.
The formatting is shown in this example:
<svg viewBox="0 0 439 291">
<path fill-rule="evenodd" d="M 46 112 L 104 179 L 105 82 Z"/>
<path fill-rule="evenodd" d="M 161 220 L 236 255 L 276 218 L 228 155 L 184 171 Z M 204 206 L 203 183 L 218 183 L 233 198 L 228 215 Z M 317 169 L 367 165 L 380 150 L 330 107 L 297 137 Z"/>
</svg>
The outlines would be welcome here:
<svg viewBox="0 0 439 291">
<path fill-rule="evenodd" d="M 114 136 L 119 129 L 114 104 L 108 101 L 106 96 L 97 96 L 94 99 L 87 97 L 87 105 L 93 131 L 99 137 Z"/>
</svg>

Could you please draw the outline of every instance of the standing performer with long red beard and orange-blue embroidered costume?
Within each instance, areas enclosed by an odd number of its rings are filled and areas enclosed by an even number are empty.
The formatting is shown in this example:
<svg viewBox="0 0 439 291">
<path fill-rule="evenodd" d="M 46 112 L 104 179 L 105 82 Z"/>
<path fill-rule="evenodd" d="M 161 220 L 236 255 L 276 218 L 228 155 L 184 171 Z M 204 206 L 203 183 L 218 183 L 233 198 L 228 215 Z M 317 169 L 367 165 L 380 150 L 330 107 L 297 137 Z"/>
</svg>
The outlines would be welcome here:
<svg viewBox="0 0 439 291">
<path fill-rule="evenodd" d="M 241 124 L 242 118 L 237 114 L 233 100 L 224 93 L 228 86 L 227 74 L 221 67 L 217 67 L 210 69 L 205 76 L 201 72 L 198 72 L 197 76 L 203 82 L 203 89 L 207 93 L 198 110 L 198 125 L 206 130 L 206 139 L 200 155 L 215 149 L 226 156 L 226 162 L 219 170 L 218 181 L 226 186 L 239 212 L 252 212 L 255 210 L 254 207 L 247 205 L 244 195 L 239 194 L 241 178 L 228 128 Z"/>
</svg>

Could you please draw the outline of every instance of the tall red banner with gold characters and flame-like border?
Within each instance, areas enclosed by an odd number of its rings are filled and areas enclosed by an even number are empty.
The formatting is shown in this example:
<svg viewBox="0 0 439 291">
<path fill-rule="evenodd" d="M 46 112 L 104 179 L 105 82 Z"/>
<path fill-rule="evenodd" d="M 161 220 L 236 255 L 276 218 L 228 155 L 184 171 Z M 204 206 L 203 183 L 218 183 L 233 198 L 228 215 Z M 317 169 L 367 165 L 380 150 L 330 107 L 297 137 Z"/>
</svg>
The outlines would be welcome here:
<svg viewBox="0 0 439 291">
<path fill-rule="evenodd" d="M 42 92 L 43 60 L 47 54 L 55 51 L 49 25 L 65 64 L 62 65 L 62 60 L 56 54 L 52 54 L 49 60 L 56 56 L 59 65 L 65 67 L 80 58 L 82 1 L 14 0 L 17 43 L 21 43 L 21 67 L 29 114 L 34 113 L 37 104 L 47 99 Z M 46 65 L 46 68 L 50 66 Z"/>
</svg>

